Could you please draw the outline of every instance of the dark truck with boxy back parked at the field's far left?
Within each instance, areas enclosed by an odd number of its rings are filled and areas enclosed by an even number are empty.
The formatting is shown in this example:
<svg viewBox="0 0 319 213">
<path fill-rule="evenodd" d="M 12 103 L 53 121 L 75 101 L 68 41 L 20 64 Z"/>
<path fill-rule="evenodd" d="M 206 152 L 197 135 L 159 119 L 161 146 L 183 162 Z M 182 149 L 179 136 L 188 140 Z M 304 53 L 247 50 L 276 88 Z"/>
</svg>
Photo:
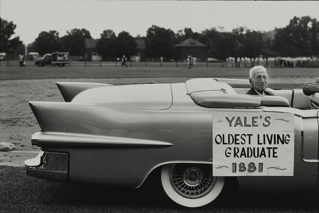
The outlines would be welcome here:
<svg viewBox="0 0 319 213">
<path fill-rule="evenodd" d="M 43 67 L 44 65 L 58 65 L 64 67 L 64 65 L 70 63 L 70 57 L 68 52 L 52 52 L 45 54 L 42 58 L 35 59 L 35 65 Z"/>
</svg>

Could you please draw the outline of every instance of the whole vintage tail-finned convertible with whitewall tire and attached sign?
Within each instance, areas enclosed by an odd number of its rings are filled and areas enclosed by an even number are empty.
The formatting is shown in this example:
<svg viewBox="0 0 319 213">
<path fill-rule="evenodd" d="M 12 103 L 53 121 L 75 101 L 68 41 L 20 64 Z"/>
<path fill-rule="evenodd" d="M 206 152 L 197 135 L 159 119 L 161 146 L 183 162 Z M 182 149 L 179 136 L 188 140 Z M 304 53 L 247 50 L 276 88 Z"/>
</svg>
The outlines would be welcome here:
<svg viewBox="0 0 319 213">
<path fill-rule="evenodd" d="M 41 128 L 30 176 L 138 188 L 160 169 L 186 207 L 215 200 L 226 177 L 241 194 L 318 193 L 319 110 L 302 90 L 244 95 L 247 80 L 222 78 L 57 86 L 65 102 L 29 102 Z"/>
</svg>

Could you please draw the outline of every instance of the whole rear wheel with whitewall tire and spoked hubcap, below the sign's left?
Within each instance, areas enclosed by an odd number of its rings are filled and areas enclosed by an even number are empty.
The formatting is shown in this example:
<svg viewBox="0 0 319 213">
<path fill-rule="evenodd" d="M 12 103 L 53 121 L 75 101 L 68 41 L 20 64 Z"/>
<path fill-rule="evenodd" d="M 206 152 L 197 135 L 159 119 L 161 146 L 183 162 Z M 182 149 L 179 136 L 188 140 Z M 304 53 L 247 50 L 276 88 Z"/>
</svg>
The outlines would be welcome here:
<svg viewBox="0 0 319 213">
<path fill-rule="evenodd" d="M 224 185 L 224 177 L 213 176 L 209 164 L 164 165 L 161 181 L 166 194 L 186 207 L 199 207 L 212 202 Z"/>
</svg>

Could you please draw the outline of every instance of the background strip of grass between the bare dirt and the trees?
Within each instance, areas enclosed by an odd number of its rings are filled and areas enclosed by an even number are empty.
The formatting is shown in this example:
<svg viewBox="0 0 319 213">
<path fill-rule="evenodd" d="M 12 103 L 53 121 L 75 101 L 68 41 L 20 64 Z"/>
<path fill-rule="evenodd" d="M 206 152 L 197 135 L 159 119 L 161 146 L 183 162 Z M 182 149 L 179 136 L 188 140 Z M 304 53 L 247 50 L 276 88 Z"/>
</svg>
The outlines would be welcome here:
<svg viewBox="0 0 319 213">
<path fill-rule="evenodd" d="M 214 67 L 206 67 L 206 63 L 199 63 L 192 69 L 183 67 L 160 67 L 159 63 L 144 62 L 134 63 L 133 67 L 115 67 L 109 62 L 100 67 L 99 62 L 94 66 L 83 66 L 83 62 L 74 62 L 72 66 L 65 67 L 37 67 L 32 61 L 27 61 L 27 67 L 20 68 L 18 61 L 1 62 L 0 80 L 12 79 L 68 79 L 68 78 L 180 78 L 185 77 L 224 77 L 224 78 L 248 78 L 248 68 L 224 68 L 221 64 L 209 64 Z M 93 63 L 93 62 L 91 62 Z M 107 66 L 107 63 L 109 66 Z M 167 64 L 167 63 L 166 63 Z M 168 66 L 168 65 L 167 65 Z M 314 80 L 319 76 L 319 68 L 269 68 L 268 86 L 271 88 L 301 88 L 304 83 Z M 168 83 L 168 82 L 167 82 Z"/>
</svg>

